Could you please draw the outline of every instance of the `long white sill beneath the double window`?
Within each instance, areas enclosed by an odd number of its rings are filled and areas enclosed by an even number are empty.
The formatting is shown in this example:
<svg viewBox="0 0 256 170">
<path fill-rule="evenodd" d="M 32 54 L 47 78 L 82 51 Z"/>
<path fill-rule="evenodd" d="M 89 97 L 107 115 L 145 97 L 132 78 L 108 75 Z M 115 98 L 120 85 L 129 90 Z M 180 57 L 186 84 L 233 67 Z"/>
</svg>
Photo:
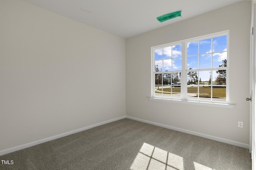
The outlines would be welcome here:
<svg viewBox="0 0 256 170">
<path fill-rule="evenodd" d="M 194 104 L 194 105 L 200 105 L 200 106 L 224 107 L 224 108 L 230 108 L 230 109 L 232 109 L 235 106 L 235 105 L 232 105 L 232 104 L 201 102 L 201 101 L 191 101 L 191 100 L 179 100 L 179 99 L 148 98 L 148 100 L 158 101 L 158 102 Z"/>
</svg>

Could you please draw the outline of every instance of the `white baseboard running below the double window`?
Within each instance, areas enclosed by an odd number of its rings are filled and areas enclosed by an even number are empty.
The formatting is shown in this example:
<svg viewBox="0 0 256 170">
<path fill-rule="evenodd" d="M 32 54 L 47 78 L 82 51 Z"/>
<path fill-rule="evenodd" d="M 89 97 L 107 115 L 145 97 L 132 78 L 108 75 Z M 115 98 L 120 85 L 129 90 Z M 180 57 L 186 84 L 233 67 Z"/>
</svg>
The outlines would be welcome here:
<svg viewBox="0 0 256 170">
<path fill-rule="evenodd" d="M 229 139 L 223 139 L 223 138 L 220 138 L 220 137 L 215 137 L 215 136 L 206 135 L 206 134 L 203 134 L 203 133 L 198 133 L 198 132 L 189 131 L 189 130 L 186 130 L 186 129 L 181 129 L 181 128 L 178 128 L 178 127 L 172 127 L 172 126 L 168 126 L 168 125 L 163 125 L 163 124 L 160 124 L 160 123 L 155 123 L 155 122 L 152 122 L 152 121 L 138 119 L 138 118 L 135 118 L 135 117 L 126 116 L 126 118 L 133 119 L 133 120 L 136 120 L 136 121 L 141 121 L 141 122 L 152 124 L 152 125 L 156 125 L 156 126 L 160 126 L 160 127 L 164 127 L 164 128 L 167 128 L 167 129 L 172 129 L 174 131 L 180 131 L 180 132 L 188 133 L 188 134 L 191 134 L 191 135 L 196 135 L 196 136 L 199 136 L 199 137 L 204 137 L 204 138 L 207 138 L 207 139 L 212 139 L 214 141 L 228 143 L 230 145 L 235 145 L 235 146 L 238 146 L 238 147 L 243 147 L 243 148 L 249 149 L 249 145 L 246 144 L 246 143 L 240 143 L 240 142 L 236 142 L 236 141 L 231 141 Z"/>
</svg>

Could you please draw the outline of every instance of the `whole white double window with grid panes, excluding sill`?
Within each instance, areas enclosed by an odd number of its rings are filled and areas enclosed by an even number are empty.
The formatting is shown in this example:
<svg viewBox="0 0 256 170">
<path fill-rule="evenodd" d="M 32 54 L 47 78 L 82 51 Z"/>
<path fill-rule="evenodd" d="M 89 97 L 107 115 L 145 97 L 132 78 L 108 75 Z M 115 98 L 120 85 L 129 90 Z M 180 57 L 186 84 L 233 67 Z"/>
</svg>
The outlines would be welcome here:
<svg viewBox="0 0 256 170">
<path fill-rule="evenodd" d="M 152 98 L 228 103 L 228 36 L 152 47 Z"/>
</svg>

